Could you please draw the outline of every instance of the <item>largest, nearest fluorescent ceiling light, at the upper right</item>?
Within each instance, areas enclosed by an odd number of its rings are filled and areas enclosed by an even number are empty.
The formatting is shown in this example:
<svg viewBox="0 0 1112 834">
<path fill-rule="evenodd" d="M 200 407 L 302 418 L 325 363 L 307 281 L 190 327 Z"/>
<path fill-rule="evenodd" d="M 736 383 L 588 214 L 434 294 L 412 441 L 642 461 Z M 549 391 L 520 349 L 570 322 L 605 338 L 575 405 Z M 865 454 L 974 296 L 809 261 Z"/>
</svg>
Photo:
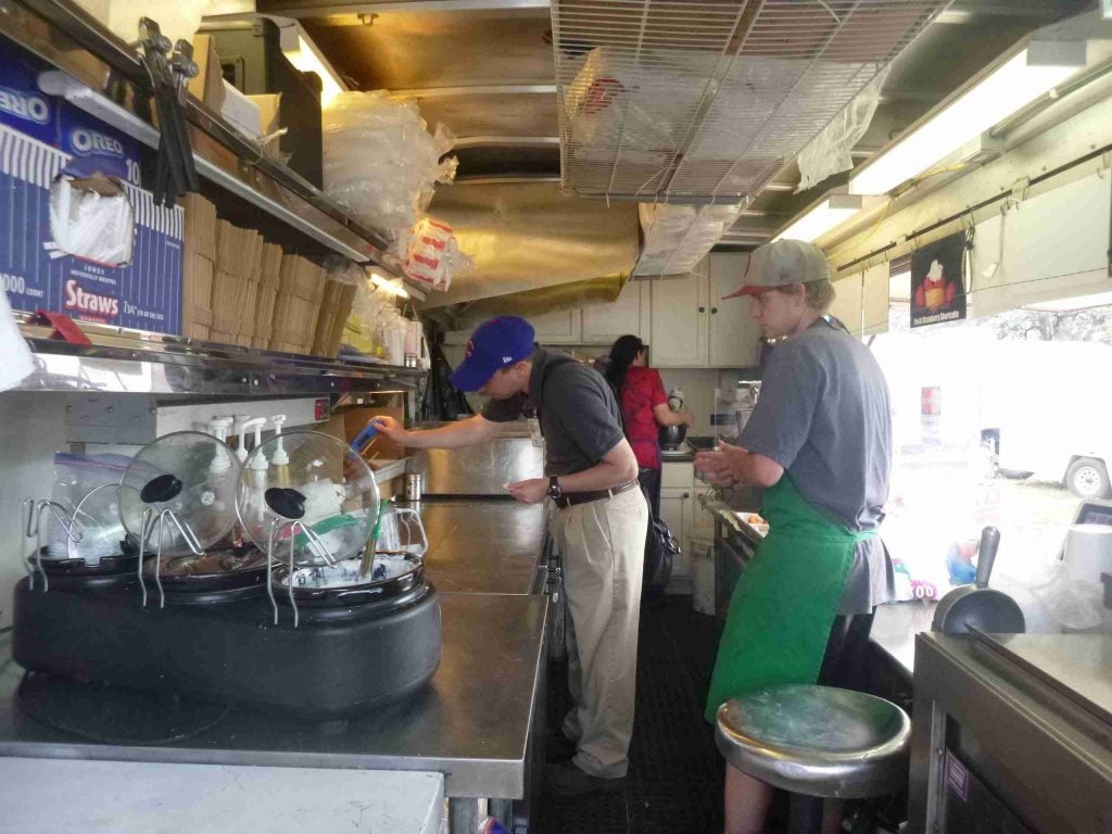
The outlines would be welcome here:
<svg viewBox="0 0 1112 834">
<path fill-rule="evenodd" d="M 887 193 L 930 170 L 1084 66 L 1083 41 L 1032 41 L 850 179 L 850 193 Z M 1079 60 L 1080 58 L 1080 60 Z"/>
</svg>

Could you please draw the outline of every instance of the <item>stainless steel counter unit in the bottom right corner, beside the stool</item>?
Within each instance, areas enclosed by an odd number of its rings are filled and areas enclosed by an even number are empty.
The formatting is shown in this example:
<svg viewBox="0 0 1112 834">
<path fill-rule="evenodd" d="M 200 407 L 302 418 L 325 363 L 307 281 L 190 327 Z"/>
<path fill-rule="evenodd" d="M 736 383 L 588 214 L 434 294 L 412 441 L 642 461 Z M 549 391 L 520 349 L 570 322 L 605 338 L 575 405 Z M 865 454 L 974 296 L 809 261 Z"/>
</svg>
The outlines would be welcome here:
<svg viewBox="0 0 1112 834">
<path fill-rule="evenodd" d="M 917 639 L 907 831 L 1112 831 L 1112 635 Z"/>
</svg>

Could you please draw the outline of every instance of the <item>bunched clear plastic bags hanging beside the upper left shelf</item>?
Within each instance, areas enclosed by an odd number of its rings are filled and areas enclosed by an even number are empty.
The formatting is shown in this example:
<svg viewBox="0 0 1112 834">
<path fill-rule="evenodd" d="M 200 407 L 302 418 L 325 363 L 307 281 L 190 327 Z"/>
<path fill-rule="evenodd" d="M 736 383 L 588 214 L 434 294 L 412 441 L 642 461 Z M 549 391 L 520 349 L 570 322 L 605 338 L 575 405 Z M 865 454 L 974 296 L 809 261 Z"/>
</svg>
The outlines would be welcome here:
<svg viewBox="0 0 1112 834">
<path fill-rule="evenodd" d="M 429 133 L 417 102 L 385 90 L 345 92 L 324 111 L 325 192 L 391 241 L 421 216 L 437 182 L 451 182 L 455 137 Z"/>
</svg>

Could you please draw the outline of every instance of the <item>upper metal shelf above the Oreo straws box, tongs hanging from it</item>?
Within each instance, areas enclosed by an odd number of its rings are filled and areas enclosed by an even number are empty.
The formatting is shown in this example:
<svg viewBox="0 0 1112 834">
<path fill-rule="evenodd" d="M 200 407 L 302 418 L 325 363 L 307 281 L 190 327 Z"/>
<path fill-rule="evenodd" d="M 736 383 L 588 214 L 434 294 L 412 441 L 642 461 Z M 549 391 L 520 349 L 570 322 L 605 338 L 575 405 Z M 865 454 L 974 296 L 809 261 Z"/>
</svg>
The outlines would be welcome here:
<svg viewBox="0 0 1112 834">
<path fill-rule="evenodd" d="M 96 116 L 158 147 L 149 121 L 149 80 L 138 57 L 98 20 L 70 0 L 0 0 L 0 34 L 96 93 L 77 102 Z M 398 275 L 386 239 L 349 218 L 320 190 L 262 157 L 218 115 L 190 98 L 189 135 L 198 172 L 271 217 L 355 261 L 373 261 Z"/>
</svg>

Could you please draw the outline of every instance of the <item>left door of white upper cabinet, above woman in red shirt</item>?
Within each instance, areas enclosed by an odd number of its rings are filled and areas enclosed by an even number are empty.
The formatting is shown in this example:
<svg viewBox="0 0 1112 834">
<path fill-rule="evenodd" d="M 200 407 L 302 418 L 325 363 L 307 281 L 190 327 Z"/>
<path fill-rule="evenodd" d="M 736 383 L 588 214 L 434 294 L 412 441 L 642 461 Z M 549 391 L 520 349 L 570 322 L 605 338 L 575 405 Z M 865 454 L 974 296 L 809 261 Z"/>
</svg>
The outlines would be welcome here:
<svg viewBox="0 0 1112 834">
<path fill-rule="evenodd" d="M 649 359 L 657 368 L 706 367 L 706 276 L 648 281 L 653 299 Z"/>
</svg>

